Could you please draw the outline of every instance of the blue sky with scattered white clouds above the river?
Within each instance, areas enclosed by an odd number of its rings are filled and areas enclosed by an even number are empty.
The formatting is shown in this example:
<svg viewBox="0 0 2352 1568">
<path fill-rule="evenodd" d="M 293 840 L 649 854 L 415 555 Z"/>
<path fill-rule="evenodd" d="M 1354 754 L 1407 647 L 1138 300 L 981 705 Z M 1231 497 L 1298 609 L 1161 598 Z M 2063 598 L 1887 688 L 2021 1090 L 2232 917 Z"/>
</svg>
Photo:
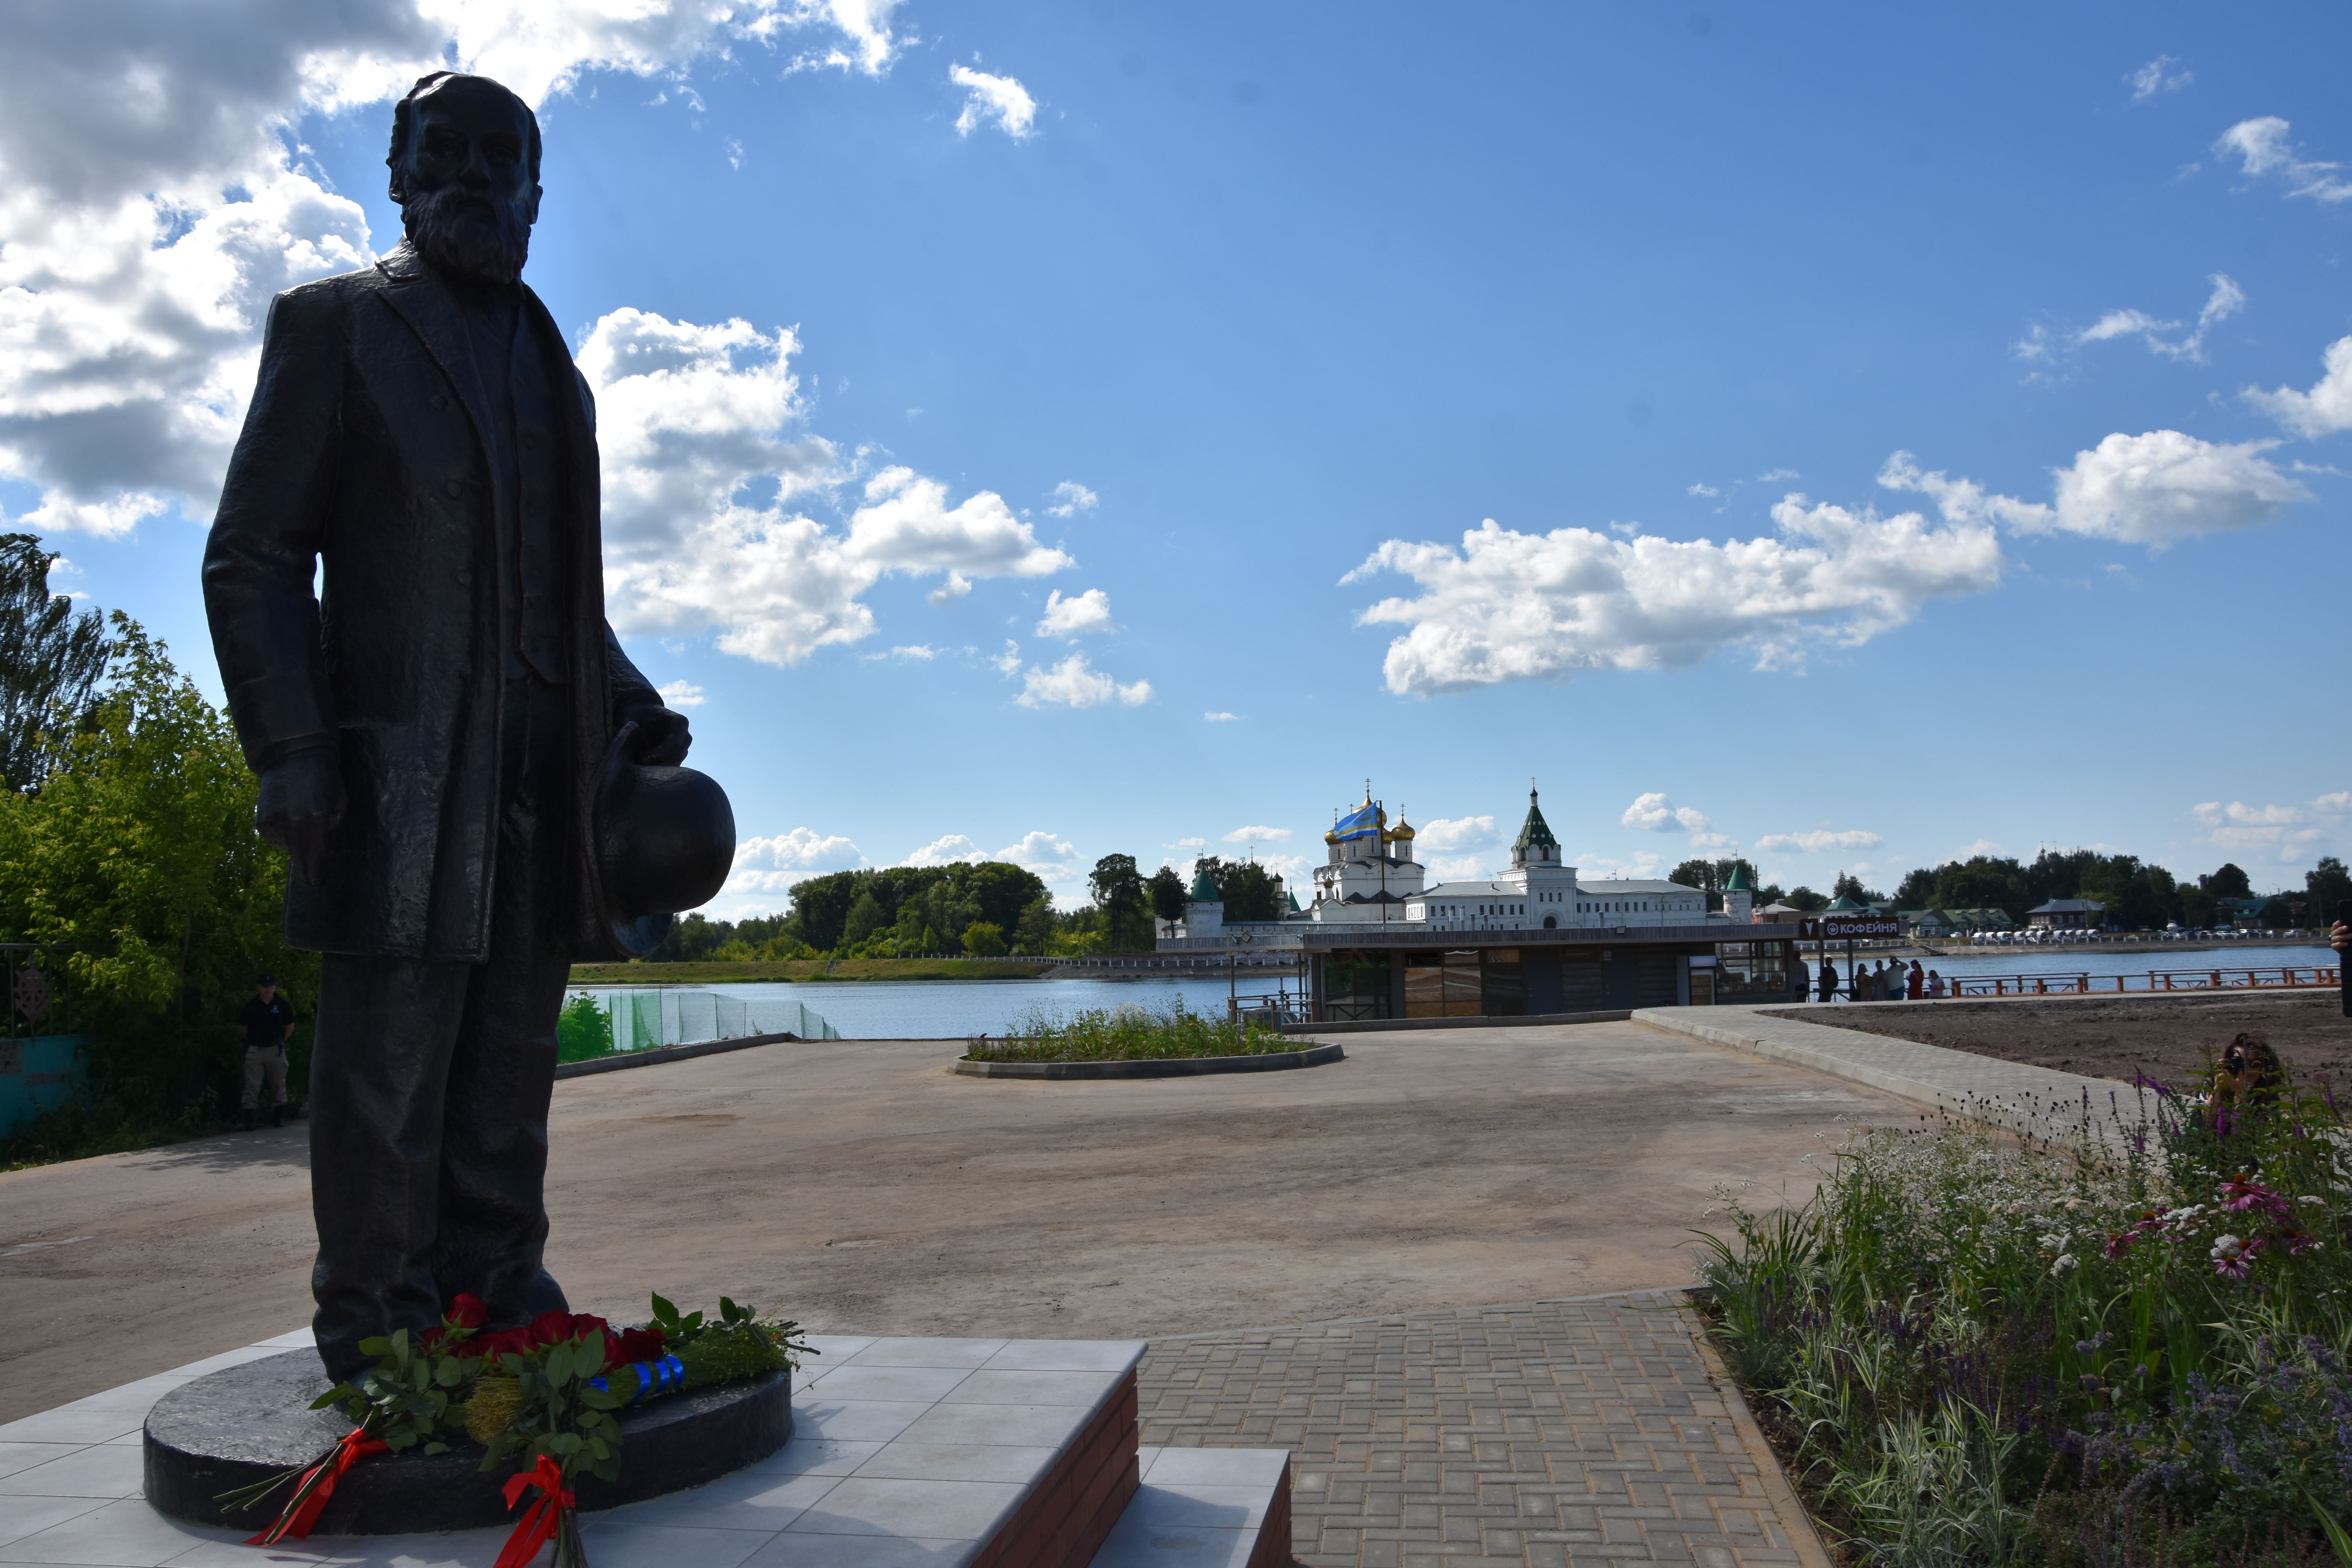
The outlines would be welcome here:
<svg viewBox="0 0 2352 1568">
<path fill-rule="evenodd" d="M 720 912 L 1298 870 L 1367 776 L 1444 875 L 1536 778 L 1588 872 L 2300 882 L 2352 19 L 1783 9 L 73 7 L 0 45 L 0 512 L 216 689 L 259 313 L 390 249 L 388 94 L 454 59 L 543 118 L 527 280 Z"/>
</svg>

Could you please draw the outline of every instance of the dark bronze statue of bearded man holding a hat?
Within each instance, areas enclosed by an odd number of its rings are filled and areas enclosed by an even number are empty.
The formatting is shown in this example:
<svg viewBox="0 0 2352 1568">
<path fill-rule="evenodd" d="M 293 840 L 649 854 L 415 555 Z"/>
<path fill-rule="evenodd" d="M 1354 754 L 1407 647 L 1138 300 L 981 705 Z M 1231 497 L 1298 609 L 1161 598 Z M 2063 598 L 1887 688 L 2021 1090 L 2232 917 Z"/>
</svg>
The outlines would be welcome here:
<svg viewBox="0 0 2352 1568">
<path fill-rule="evenodd" d="M 327 954 L 310 1291 L 336 1378 L 461 1291 L 492 1324 L 564 1307 L 541 1251 L 569 966 L 640 957 L 654 912 L 717 891 L 659 900 L 600 849 L 600 788 L 677 764 L 687 722 L 604 625 L 595 411 L 520 282 L 539 122 L 435 73 L 386 162 L 407 242 L 270 306 L 205 548 L 259 827 L 287 851 L 287 943 Z M 724 860 L 717 802 L 701 844 Z"/>
</svg>

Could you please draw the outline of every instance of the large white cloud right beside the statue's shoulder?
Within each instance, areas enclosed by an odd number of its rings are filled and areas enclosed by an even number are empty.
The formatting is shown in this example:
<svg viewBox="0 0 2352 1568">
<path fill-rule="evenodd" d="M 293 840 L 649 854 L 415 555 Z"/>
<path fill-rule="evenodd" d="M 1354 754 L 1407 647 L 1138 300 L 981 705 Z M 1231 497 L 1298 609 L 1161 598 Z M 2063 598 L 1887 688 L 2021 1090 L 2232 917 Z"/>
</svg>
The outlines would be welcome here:
<svg viewBox="0 0 2352 1568">
<path fill-rule="evenodd" d="M 579 367 L 597 393 L 616 630 L 715 630 L 729 654 L 797 665 L 873 635 L 861 595 L 887 574 L 941 576 L 941 592 L 960 595 L 971 578 L 1075 564 L 995 491 L 950 505 L 946 484 L 910 468 L 868 477 L 847 529 L 800 510 L 851 475 L 833 442 L 793 433 L 797 348 L 788 329 L 647 310 L 614 310 L 590 329 Z M 743 498 L 755 484 L 769 489 L 764 505 Z"/>
</svg>

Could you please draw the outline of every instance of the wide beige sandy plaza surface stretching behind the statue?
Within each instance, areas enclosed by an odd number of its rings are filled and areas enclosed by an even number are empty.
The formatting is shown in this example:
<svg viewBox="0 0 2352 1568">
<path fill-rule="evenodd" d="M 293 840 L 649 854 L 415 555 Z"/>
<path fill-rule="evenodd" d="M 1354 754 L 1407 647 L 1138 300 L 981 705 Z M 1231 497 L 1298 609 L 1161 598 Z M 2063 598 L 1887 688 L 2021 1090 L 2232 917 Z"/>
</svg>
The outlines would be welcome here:
<svg viewBox="0 0 2352 1568">
<path fill-rule="evenodd" d="M 1348 1037 L 1301 1072 L 967 1079 L 783 1044 L 555 1086 L 574 1307 L 1148 1338 L 1675 1286 L 1719 1182 L 1900 1100 L 1637 1023 Z M 0 1175 L 0 1420 L 308 1321 L 306 1128 Z M 28 1246 L 56 1244 L 64 1246 Z"/>
</svg>

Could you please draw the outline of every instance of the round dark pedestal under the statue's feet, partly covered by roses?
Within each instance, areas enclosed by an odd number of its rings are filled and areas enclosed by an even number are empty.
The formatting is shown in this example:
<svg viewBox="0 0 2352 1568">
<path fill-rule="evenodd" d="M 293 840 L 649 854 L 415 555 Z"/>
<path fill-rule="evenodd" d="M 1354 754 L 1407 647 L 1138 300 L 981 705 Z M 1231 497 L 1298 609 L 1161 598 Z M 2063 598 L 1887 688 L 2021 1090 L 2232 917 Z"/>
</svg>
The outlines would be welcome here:
<svg viewBox="0 0 2352 1568">
<path fill-rule="evenodd" d="M 329 1387 L 318 1352 L 247 1361 L 172 1389 L 146 1422 L 146 1497 L 193 1523 L 261 1530 L 285 1507 L 287 1490 L 249 1514 L 228 1516 L 219 1493 L 308 1465 L 350 1432 L 341 1410 L 313 1410 Z M 793 1439 L 793 1375 L 767 1373 L 691 1394 L 668 1394 L 619 1413 L 621 1474 L 579 1476 L 581 1509 L 609 1509 L 703 1486 L 776 1453 Z M 376 1453 L 336 1483 L 318 1535 L 407 1535 L 513 1523 L 501 1488 L 520 1469 L 482 1474 L 473 1443 L 440 1455 Z M 536 1495 L 536 1493 L 532 1493 Z"/>
</svg>

